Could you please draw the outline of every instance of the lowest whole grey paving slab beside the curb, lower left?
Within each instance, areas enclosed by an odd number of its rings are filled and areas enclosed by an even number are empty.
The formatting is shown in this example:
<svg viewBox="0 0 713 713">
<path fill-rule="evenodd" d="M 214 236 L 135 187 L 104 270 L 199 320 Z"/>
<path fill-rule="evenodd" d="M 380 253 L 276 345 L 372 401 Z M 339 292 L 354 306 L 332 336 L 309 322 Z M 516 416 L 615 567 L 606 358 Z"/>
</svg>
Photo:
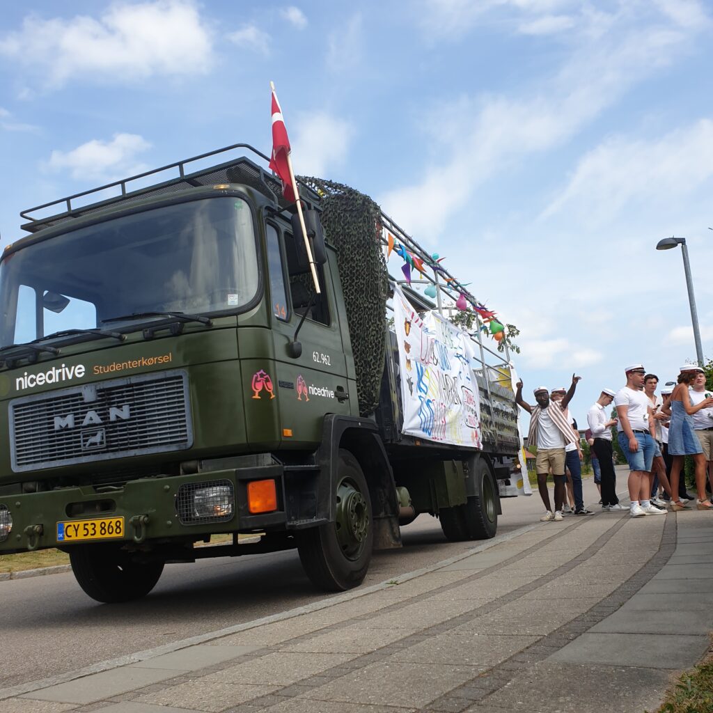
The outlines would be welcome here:
<svg viewBox="0 0 713 713">
<path fill-rule="evenodd" d="M 111 671 L 95 673 L 74 681 L 33 691 L 23 696 L 23 698 L 61 701 L 64 703 L 95 703 L 152 683 L 165 681 L 178 673 L 180 672 L 175 670 L 123 666 Z"/>
</svg>

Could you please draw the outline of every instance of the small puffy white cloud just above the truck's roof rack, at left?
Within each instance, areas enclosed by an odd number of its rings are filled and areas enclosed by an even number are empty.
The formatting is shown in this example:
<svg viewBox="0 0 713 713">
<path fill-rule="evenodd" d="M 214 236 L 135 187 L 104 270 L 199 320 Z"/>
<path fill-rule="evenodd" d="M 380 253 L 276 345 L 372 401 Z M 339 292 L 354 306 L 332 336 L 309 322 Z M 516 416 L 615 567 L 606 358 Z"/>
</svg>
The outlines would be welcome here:
<svg viewBox="0 0 713 713">
<path fill-rule="evenodd" d="M 111 141 L 93 139 L 71 151 L 54 150 L 46 169 L 69 170 L 72 178 L 81 179 L 140 173 L 145 167 L 137 163 L 135 157 L 150 147 L 150 143 L 137 134 L 117 133 Z"/>
</svg>

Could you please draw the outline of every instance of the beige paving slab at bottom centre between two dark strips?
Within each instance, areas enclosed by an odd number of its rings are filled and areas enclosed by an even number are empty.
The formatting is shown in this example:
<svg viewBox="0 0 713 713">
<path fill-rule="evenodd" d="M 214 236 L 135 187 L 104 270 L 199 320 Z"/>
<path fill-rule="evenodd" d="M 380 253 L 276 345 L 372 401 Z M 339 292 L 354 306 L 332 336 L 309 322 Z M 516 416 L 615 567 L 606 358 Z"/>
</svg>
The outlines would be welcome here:
<svg viewBox="0 0 713 713">
<path fill-rule="evenodd" d="M 388 660 L 318 686 L 301 698 L 421 708 L 470 680 L 475 674 L 471 666 L 397 663 Z"/>
</svg>

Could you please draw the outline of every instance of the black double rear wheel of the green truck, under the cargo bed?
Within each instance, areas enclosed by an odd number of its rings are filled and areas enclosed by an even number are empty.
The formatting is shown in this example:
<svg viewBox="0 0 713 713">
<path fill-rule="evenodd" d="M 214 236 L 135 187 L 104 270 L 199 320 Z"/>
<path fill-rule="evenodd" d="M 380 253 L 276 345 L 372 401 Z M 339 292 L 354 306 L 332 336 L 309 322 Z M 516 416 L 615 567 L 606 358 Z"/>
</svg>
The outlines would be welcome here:
<svg viewBox="0 0 713 713">
<path fill-rule="evenodd" d="M 463 505 L 441 508 L 438 518 L 441 530 L 451 542 L 488 540 L 498 531 L 497 486 L 488 463 L 479 458 L 476 463 L 476 493 Z"/>
</svg>

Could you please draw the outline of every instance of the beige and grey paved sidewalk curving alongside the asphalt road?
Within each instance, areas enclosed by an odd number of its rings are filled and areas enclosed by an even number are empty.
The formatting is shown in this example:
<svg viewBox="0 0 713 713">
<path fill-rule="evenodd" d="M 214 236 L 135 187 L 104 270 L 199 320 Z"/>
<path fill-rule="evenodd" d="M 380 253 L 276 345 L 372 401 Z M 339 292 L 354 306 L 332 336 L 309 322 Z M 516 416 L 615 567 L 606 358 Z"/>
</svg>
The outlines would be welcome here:
<svg viewBox="0 0 713 713">
<path fill-rule="evenodd" d="M 0 712 L 642 713 L 709 650 L 711 513 L 570 516 L 477 549 L 317 610 L 0 691 Z"/>
</svg>

